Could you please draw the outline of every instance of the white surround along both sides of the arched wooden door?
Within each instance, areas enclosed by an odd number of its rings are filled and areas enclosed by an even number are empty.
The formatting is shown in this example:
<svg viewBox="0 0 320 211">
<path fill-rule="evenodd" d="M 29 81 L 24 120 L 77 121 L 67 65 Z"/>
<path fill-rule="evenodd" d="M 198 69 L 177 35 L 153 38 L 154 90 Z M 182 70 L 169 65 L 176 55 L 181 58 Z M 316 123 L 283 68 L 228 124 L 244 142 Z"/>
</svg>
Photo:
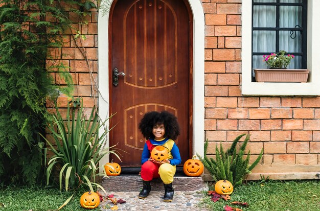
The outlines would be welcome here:
<svg viewBox="0 0 320 211">
<path fill-rule="evenodd" d="M 113 0 L 110 1 L 112 4 Z M 200 0 L 188 0 L 193 13 L 193 102 L 192 102 L 192 154 L 203 156 L 204 146 L 204 14 Z M 98 17 L 98 86 L 99 115 L 109 116 L 109 13 Z M 99 39 L 102 37 L 102 39 Z M 108 127 L 108 125 L 106 125 Z M 103 128 L 101 129 L 103 130 Z M 109 146 L 107 138 L 106 145 Z M 100 160 L 100 166 L 108 162 L 108 156 Z"/>
</svg>

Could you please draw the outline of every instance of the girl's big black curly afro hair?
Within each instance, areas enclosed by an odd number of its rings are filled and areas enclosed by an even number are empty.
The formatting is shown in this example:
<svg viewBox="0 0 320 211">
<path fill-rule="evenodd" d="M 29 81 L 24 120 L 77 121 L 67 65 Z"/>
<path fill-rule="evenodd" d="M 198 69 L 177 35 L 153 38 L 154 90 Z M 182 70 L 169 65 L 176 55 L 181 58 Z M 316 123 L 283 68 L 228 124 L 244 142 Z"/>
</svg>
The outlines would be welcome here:
<svg viewBox="0 0 320 211">
<path fill-rule="evenodd" d="M 150 111 L 147 112 L 140 124 L 139 129 L 145 138 L 154 139 L 154 135 L 152 133 L 152 129 L 154 125 L 164 124 L 165 126 L 165 137 L 170 138 L 172 140 L 177 139 L 178 135 L 180 135 L 180 127 L 177 122 L 177 118 L 172 113 L 168 111 Z"/>
</svg>

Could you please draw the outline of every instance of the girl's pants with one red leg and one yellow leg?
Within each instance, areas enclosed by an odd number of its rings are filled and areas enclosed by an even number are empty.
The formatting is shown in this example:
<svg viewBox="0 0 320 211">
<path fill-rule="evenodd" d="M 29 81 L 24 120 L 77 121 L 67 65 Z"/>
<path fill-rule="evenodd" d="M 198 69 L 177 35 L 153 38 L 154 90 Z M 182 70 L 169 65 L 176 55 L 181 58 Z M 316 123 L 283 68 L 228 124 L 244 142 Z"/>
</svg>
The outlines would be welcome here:
<svg viewBox="0 0 320 211">
<path fill-rule="evenodd" d="M 170 184 L 173 181 L 174 174 L 175 166 L 172 166 L 170 163 L 164 163 L 158 166 L 152 161 L 146 161 L 141 166 L 141 178 L 145 181 L 161 177 L 165 184 Z"/>
</svg>

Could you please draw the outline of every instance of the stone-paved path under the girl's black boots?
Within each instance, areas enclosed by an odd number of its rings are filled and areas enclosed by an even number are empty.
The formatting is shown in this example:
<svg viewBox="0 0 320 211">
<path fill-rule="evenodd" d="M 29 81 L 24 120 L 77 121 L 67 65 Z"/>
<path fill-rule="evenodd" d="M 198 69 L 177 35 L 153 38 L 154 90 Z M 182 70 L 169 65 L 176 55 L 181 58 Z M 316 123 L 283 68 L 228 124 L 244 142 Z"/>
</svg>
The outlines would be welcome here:
<svg viewBox="0 0 320 211">
<path fill-rule="evenodd" d="M 207 187 L 204 186 L 202 190 L 197 191 L 175 191 L 172 202 L 163 201 L 164 191 L 151 190 L 146 199 L 139 199 L 139 192 L 115 192 L 112 194 L 115 198 L 126 201 L 126 203 L 117 204 L 118 210 L 200 211 L 208 210 L 199 205 L 203 198 L 203 190 L 207 190 Z M 108 200 L 107 202 L 101 202 L 99 206 L 102 210 L 110 210 L 110 207 L 114 204 Z"/>
</svg>

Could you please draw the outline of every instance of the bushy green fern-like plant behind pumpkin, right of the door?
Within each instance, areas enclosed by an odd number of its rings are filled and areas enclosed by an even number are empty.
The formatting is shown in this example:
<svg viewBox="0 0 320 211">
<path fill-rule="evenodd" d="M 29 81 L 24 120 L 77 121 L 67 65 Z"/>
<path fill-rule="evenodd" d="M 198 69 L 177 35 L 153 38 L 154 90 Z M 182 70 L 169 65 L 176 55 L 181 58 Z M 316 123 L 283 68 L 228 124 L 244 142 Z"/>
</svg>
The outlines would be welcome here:
<svg viewBox="0 0 320 211">
<path fill-rule="evenodd" d="M 244 142 L 242 143 L 239 151 L 237 152 L 236 147 L 239 140 L 245 134 L 237 136 L 231 147 L 226 151 L 223 151 L 222 144 L 220 143 L 220 148 L 218 144 L 216 145 L 216 159 L 207 156 L 208 149 L 208 139 L 204 143 L 204 157 L 202 158 L 199 154 L 199 160 L 203 163 L 203 166 L 209 171 L 214 181 L 219 181 L 226 179 L 230 181 L 234 186 L 237 186 L 243 182 L 245 176 L 250 173 L 259 163 L 262 158 L 263 149 L 257 159 L 249 165 L 250 151 L 247 153 L 246 158 L 244 159 L 244 151 L 247 145 L 247 142 L 250 138 L 249 135 L 246 135 Z"/>
</svg>

